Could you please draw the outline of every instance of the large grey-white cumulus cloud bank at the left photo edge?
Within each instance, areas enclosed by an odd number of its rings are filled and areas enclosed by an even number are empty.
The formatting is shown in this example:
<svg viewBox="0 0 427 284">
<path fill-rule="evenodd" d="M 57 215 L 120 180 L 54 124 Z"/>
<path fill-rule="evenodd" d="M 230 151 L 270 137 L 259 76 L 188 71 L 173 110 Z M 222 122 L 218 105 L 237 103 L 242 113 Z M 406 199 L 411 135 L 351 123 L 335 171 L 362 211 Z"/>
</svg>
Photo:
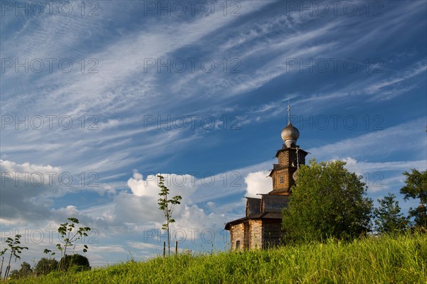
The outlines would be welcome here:
<svg viewBox="0 0 427 284">
<path fill-rule="evenodd" d="M 59 224 L 81 213 L 77 207 L 80 204 L 73 203 L 75 200 L 58 206 L 58 198 L 86 190 L 100 195 L 115 193 L 109 185 L 105 185 L 106 188 L 102 184 L 90 186 L 93 180 L 88 179 L 88 175 L 83 177 L 52 165 L 0 160 L 0 168 L 0 220 L 4 224 Z"/>
</svg>

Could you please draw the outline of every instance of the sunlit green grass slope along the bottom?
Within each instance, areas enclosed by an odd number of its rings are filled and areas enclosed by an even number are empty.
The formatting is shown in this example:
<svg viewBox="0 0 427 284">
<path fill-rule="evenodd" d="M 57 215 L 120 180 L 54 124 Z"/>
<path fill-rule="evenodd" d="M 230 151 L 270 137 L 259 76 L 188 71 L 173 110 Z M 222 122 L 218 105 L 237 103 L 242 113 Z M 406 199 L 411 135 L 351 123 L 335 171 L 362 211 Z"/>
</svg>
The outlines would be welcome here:
<svg viewBox="0 0 427 284">
<path fill-rule="evenodd" d="M 7 283 L 427 283 L 427 234 L 181 254 Z"/>
</svg>

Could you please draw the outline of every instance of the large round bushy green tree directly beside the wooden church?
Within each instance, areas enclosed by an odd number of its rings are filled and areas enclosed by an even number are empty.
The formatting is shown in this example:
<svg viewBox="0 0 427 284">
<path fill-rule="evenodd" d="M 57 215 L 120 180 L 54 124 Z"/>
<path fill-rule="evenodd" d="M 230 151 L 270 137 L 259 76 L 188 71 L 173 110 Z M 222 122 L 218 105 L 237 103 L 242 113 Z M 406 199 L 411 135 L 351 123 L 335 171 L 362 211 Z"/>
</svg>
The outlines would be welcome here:
<svg viewBox="0 0 427 284">
<path fill-rule="evenodd" d="M 297 171 L 288 207 L 283 209 L 285 241 L 351 239 L 369 231 L 372 201 L 362 176 L 340 160 L 310 160 Z"/>
</svg>

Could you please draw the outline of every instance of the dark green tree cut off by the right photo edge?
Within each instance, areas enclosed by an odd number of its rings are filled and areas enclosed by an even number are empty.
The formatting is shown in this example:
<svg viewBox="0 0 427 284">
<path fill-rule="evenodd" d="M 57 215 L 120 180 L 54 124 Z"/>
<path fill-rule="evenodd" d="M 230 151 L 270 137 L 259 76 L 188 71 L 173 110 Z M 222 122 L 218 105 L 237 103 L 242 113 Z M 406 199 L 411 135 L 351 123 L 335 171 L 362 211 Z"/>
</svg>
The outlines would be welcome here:
<svg viewBox="0 0 427 284">
<path fill-rule="evenodd" d="M 401 188 L 401 194 L 405 195 L 404 199 L 409 198 L 419 199 L 418 207 L 409 209 L 409 216 L 414 218 L 416 226 L 427 227 L 427 170 L 419 172 L 416 169 L 411 169 L 411 173 L 405 172 L 406 185 Z"/>
</svg>

